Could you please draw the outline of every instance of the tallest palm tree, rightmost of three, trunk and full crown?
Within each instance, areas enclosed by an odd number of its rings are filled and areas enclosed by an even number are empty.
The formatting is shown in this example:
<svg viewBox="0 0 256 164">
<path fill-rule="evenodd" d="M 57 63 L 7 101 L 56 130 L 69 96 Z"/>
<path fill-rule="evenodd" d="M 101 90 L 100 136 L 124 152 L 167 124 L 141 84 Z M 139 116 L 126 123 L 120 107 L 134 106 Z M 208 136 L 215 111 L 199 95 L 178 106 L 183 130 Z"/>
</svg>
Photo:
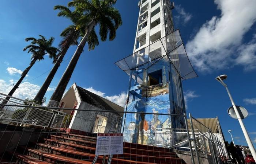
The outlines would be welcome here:
<svg viewBox="0 0 256 164">
<path fill-rule="evenodd" d="M 116 0 L 73 0 L 68 3 L 69 7 L 75 7 L 78 11 L 83 11 L 84 15 L 78 20 L 77 27 L 87 25 L 85 34 L 80 41 L 72 59 L 70 60 L 67 69 L 62 75 L 48 106 L 58 106 L 64 94 L 69 79 L 75 69 L 76 63 L 83 52 L 83 48 L 94 31 L 95 26 L 99 25 L 99 35 L 102 41 L 106 41 L 108 34 L 109 40 L 114 40 L 116 30 L 122 24 L 122 19 L 119 11 L 113 7 Z"/>
</svg>

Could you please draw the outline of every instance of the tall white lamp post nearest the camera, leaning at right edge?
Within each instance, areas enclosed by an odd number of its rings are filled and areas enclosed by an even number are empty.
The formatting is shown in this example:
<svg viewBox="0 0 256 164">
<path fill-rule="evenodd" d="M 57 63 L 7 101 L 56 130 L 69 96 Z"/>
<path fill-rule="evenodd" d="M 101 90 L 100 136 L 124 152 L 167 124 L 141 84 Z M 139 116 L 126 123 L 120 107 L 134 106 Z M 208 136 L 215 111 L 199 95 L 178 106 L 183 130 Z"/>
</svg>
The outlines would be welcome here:
<svg viewBox="0 0 256 164">
<path fill-rule="evenodd" d="M 253 147 L 252 140 L 251 140 L 251 138 L 249 137 L 249 134 L 248 134 L 247 130 L 245 129 L 244 123 L 242 122 L 242 118 L 241 118 L 241 116 L 240 116 L 240 112 L 238 111 L 237 106 L 235 105 L 234 100 L 233 100 L 233 98 L 231 97 L 231 94 L 230 94 L 230 92 L 229 92 L 229 89 L 227 88 L 227 85 L 223 82 L 223 80 L 225 80 L 225 79 L 227 79 L 227 75 L 220 75 L 220 76 L 218 76 L 218 77 L 216 78 L 216 80 L 217 80 L 218 82 L 220 82 L 220 83 L 226 88 L 227 94 L 229 94 L 230 101 L 231 101 L 231 103 L 232 103 L 232 105 L 233 105 L 233 108 L 234 108 L 234 111 L 235 111 L 235 113 L 236 113 L 238 122 L 239 122 L 239 124 L 240 124 L 240 126 L 241 126 L 241 129 L 242 129 L 242 132 L 244 133 L 245 140 L 246 140 L 246 142 L 247 142 L 247 144 L 248 144 L 248 147 L 249 147 L 249 149 L 250 149 L 250 151 L 251 151 L 251 153 L 252 153 L 253 158 L 256 159 L 256 152 L 255 152 L 255 148 Z M 231 135 L 231 136 L 232 136 L 232 135 Z M 233 138 L 232 138 L 232 140 L 233 140 Z M 234 142 L 234 141 L 233 141 L 233 142 Z"/>
</svg>

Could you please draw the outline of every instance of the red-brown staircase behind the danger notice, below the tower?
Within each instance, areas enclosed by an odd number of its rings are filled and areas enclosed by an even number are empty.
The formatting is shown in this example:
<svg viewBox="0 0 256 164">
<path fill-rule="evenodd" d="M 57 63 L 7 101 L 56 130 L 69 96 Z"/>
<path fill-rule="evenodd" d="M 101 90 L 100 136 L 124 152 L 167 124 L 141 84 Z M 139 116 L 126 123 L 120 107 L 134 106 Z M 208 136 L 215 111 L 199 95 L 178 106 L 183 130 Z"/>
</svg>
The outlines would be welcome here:
<svg viewBox="0 0 256 164">
<path fill-rule="evenodd" d="M 26 154 L 15 153 L 17 163 L 29 164 L 91 164 L 95 157 L 96 137 L 60 133 L 44 138 L 37 149 L 27 149 Z M 103 156 L 97 163 L 101 164 Z M 105 163 L 108 160 L 106 157 Z M 113 164 L 185 164 L 170 149 L 124 142 L 124 154 L 114 155 Z"/>
</svg>

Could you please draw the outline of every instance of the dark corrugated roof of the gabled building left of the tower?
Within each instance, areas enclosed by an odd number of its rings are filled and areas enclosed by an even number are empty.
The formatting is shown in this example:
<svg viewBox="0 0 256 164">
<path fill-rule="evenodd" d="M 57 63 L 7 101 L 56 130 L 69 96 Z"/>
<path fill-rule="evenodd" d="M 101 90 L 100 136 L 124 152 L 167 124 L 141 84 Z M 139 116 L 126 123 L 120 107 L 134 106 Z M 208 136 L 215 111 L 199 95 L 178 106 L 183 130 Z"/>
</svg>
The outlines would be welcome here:
<svg viewBox="0 0 256 164">
<path fill-rule="evenodd" d="M 81 100 L 84 102 L 87 102 L 91 105 L 97 106 L 100 109 L 103 110 L 116 110 L 118 112 L 124 112 L 124 108 L 103 98 L 100 97 L 97 94 L 94 94 L 86 89 L 83 89 L 82 87 L 76 86 L 79 95 L 81 97 Z M 123 113 L 119 113 L 123 115 Z"/>
</svg>

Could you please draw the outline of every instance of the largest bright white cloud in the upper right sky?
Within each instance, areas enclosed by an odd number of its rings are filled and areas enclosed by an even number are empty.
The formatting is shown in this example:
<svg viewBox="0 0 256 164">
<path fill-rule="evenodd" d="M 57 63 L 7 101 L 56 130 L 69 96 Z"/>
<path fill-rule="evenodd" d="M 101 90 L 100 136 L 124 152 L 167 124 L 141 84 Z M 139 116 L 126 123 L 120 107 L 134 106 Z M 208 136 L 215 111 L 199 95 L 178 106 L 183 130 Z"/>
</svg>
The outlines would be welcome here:
<svg viewBox="0 0 256 164">
<path fill-rule="evenodd" d="M 203 24 L 187 44 L 192 64 L 200 71 L 242 65 L 255 69 L 256 40 L 242 44 L 243 37 L 256 20 L 255 0 L 215 0 L 221 16 Z"/>
</svg>

